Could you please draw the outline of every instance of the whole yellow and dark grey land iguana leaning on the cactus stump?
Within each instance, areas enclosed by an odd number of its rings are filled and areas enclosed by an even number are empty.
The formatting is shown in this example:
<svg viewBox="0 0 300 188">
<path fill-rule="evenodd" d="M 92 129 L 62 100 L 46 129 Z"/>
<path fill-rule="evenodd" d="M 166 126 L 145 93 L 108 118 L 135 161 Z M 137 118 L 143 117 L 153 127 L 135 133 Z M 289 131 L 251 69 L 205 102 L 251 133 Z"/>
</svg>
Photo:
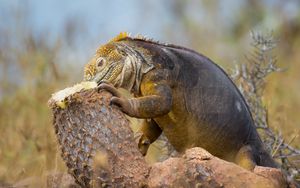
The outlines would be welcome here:
<svg viewBox="0 0 300 188">
<path fill-rule="evenodd" d="M 202 147 L 249 170 L 277 167 L 235 84 L 191 49 L 121 33 L 97 49 L 84 80 L 111 92 L 111 103 L 127 115 L 144 119 L 138 142 L 143 155 L 163 131 L 178 152 Z"/>
</svg>

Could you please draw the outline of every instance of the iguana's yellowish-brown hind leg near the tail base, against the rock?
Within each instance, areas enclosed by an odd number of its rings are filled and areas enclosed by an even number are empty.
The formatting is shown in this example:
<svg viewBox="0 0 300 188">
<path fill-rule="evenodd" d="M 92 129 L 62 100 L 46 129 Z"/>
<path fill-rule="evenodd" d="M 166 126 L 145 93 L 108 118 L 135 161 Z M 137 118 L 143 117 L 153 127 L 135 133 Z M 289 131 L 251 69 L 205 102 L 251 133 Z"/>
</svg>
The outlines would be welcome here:
<svg viewBox="0 0 300 188">
<path fill-rule="evenodd" d="M 247 170 L 252 171 L 255 168 L 255 166 L 257 165 L 255 154 L 250 145 L 241 147 L 235 157 L 235 163 Z"/>
</svg>

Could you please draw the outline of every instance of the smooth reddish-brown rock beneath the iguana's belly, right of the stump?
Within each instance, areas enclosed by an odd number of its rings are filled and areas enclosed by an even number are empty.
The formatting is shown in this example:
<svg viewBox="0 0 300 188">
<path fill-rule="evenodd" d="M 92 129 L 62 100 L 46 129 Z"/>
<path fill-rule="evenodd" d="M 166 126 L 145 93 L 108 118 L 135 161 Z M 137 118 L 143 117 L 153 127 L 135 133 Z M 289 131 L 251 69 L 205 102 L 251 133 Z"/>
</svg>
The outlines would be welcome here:
<svg viewBox="0 0 300 188">
<path fill-rule="evenodd" d="M 158 175 L 159 174 L 159 175 Z M 254 172 L 192 148 L 180 158 L 152 166 L 149 187 L 288 187 L 279 169 L 257 166 Z"/>
</svg>

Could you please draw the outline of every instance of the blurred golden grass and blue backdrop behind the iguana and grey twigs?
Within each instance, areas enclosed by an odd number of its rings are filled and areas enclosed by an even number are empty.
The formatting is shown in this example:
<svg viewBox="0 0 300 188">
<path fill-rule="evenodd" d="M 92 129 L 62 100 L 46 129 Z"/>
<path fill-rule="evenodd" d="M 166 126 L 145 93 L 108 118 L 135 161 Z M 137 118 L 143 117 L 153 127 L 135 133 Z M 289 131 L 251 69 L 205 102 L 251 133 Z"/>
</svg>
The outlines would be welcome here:
<svg viewBox="0 0 300 188">
<path fill-rule="evenodd" d="M 246 61 L 251 30 L 280 39 L 285 71 L 268 78 L 263 100 L 289 140 L 300 131 L 298 0 L 0 0 L 0 185 L 66 171 L 47 100 L 80 82 L 96 48 L 119 32 L 195 49 L 230 70 Z"/>
</svg>

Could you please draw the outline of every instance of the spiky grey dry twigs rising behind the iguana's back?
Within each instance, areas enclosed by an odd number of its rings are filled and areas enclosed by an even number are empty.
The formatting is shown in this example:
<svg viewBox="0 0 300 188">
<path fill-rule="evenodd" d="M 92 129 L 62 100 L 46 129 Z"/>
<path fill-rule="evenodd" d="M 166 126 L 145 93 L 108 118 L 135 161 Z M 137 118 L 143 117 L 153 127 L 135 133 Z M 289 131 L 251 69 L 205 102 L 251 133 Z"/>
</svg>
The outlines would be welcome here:
<svg viewBox="0 0 300 188">
<path fill-rule="evenodd" d="M 285 142 L 281 133 L 276 133 L 269 126 L 268 111 L 263 105 L 262 95 L 265 88 L 265 79 L 271 73 L 282 71 L 277 67 L 277 59 L 273 50 L 278 40 L 273 33 L 267 34 L 251 32 L 253 51 L 246 56 L 247 63 L 236 66 L 231 78 L 244 95 L 259 133 L 275 159 L 280 161 L 281 168 L 287 172 L 289 178 L 299 179 L 300 169 L 297 168 L 291 157 L 300 157 L 300 150 L 292 147 L 291 142 Z"/>
</svg>

